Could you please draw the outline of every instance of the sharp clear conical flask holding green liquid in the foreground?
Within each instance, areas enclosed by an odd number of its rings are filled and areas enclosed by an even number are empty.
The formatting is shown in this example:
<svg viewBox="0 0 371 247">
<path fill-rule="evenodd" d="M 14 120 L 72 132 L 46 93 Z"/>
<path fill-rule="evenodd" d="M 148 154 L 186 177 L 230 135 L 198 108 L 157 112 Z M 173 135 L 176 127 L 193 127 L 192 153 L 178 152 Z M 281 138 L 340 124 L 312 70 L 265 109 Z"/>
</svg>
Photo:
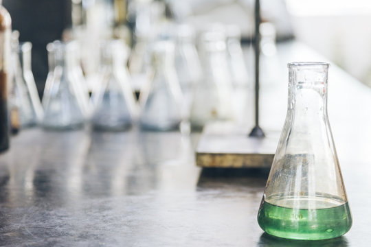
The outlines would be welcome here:
<svg viewBox="0 0 371 247">
<path fill-rule="evenodd" d="M 260 227 L 289 239 L 330 239 L 352 217 L 327 116 L 324 62 L 289 64 L 286 121 L 258 213 Z"/>
</svg>

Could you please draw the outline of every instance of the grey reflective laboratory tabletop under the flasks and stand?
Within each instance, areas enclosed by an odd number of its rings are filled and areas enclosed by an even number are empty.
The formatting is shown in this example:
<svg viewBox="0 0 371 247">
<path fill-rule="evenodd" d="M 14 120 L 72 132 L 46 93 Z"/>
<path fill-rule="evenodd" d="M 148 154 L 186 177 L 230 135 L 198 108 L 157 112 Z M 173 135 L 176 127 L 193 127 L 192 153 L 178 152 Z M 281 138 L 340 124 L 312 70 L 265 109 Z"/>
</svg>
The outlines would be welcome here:
<svg viewBox="0 0 371 247">
<path fill-rule="evenodd" d="M 326 59 L 297 42 L 262 59 L 262 127 L 280 131 L 286 63 Z M 33 128 L 0 154 L 0 246 L 371 246 L 370 107 L 371 89 L 332 64 L 328 115 L 353 216 L 343 237 L 263 233 L 256 217 L 269 170 L 196 167 L 200 133 Z"/>
</svg>

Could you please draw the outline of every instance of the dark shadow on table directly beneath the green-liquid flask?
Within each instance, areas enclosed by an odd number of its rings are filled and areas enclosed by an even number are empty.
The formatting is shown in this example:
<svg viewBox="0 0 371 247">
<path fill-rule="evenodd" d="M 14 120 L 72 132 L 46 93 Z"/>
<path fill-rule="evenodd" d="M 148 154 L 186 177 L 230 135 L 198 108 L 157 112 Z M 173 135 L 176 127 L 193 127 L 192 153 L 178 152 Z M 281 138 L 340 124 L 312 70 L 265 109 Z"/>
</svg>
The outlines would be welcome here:
<svg viewBox="0 0 371 247">
<path fill-rule="evenodd" d="M 280 237 L 274 237 L 267 233 L 263 233 L 260 236 L 257 247 L 297 247 L 297 246 L 308 246 L 308 247 L 346 247 L 348 246 L 348 240 L 346 237 L 337 237 L 335 239 L 326 240 L 315 240 L 315 241 L 304 241 L 304 240 L 291 240 L 283 239 Z"/>
</svg>

